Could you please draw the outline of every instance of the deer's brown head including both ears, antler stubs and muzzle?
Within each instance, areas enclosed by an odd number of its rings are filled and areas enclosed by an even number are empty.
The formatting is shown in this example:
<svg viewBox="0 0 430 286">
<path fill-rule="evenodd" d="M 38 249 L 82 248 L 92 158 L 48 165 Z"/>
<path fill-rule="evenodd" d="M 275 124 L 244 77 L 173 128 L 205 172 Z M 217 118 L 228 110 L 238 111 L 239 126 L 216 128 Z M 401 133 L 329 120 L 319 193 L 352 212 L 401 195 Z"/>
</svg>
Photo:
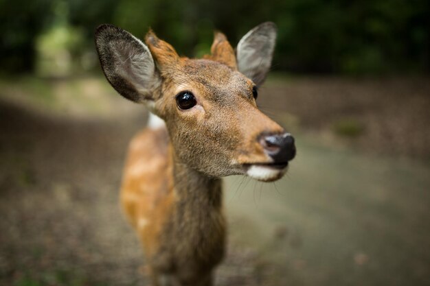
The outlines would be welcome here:
<svg viewBox="0 0 430 286">
<path fill-rule="evenodd" d="M 256 105 L 275 38 L 275 25 L 263 23 L 235 53 L 217 32 L 211 55 L 202 59 L 178 56 L 152 31 L 145 45 L 113 25 L 98 27 L 95 43 L 113 88 L 166 122 L 176 160 L 211 177 L 272 181 L 295 156 L 293 137 Z"/>
</svg>

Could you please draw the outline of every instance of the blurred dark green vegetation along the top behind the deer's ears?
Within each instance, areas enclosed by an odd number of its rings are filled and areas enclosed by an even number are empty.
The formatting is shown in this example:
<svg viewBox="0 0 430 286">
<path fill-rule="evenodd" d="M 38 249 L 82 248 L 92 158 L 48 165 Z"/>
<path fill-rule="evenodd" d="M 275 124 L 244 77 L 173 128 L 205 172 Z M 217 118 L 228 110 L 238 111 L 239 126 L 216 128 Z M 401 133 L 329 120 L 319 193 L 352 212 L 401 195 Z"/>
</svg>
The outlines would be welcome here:
<svg viewBox="0 0 430 286">
<path fill-rule="evenodd" d="M 149 27 L 179 53 L 201 56 L 214 29 L 236 45 L 278 24 L 273 69 L 301 73 L 428 73 L 428 0 L 0 0 L 0 71 L 67 75 L 98 67 L 93 31 Z"/>
</svg>

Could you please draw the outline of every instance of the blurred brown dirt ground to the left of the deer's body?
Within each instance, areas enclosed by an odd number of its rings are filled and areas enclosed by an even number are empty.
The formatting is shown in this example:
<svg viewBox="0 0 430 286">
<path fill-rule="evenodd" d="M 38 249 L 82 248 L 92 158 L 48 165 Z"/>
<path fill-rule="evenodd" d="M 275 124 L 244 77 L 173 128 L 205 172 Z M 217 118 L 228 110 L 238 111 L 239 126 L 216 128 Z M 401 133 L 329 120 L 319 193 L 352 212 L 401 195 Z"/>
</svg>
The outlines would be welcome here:
<svg viewBox="0 0 430 286">
<path fill-rule="evenodd" d="M 41 117 L 5 104 L 0 117 L 2 285 L 137 281 L 139 251 L 117 207 L 133 121 Z"/>
</svg>

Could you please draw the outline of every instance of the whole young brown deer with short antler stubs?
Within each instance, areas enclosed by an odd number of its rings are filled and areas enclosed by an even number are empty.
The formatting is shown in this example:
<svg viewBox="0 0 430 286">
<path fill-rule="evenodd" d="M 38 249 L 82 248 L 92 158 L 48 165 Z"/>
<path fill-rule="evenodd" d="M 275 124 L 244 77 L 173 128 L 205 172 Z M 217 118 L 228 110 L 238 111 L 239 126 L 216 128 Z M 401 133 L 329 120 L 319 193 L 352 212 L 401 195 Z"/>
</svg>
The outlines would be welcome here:
<svg viewBox="0 0 430 286">
<path fill-rule="evenodd" d="M 217 32 L 210 56 L 189 59 L 152 31 L 146 45 L 113 25 L 95 32 L 107 80 L 152 112 L 131 141 L 121 200 L 153 285 L 212 285 L 225 252 L 220 177 L 278 180 L 295 156 L 293 137 L 256 105 L 275 37 L 263 23 L 235 53 Z"/>
</svg>

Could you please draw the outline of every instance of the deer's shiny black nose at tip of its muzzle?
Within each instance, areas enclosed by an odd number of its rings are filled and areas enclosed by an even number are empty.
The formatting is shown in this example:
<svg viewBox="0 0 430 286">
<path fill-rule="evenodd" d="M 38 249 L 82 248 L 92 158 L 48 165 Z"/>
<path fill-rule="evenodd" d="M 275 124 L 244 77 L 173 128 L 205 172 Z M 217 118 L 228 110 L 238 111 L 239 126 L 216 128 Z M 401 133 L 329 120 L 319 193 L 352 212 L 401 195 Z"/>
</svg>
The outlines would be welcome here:
<svg viewBox="0 0 430 286">
<path fill-rule="evenodd" d="M 274 163 L 287 163 L 295 156 L 294 138 L 289 133 L 266 134 L 261 137 L 260 143 Z"/>
</svg>

